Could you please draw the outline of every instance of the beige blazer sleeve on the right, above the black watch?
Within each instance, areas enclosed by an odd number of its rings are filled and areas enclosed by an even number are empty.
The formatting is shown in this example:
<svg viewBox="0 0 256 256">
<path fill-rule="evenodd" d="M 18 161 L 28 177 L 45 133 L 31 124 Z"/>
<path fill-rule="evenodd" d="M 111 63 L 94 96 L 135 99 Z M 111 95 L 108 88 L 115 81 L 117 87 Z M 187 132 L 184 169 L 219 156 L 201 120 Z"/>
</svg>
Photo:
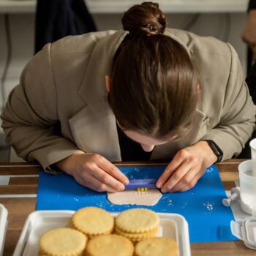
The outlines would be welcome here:
<svg viewBox="0 0 256 256">
<path fill-rule="evenodd" d="M 230 75 L 227 80 L 225 98 L 219 124 L 201 140 L 214 140 L 222 149 L 222 160 L 236 157 L 244 148 L 255 129 L 256 106 L 252 102 L 241 69 L 236 50 L 231 51 Z"/>
</svg>

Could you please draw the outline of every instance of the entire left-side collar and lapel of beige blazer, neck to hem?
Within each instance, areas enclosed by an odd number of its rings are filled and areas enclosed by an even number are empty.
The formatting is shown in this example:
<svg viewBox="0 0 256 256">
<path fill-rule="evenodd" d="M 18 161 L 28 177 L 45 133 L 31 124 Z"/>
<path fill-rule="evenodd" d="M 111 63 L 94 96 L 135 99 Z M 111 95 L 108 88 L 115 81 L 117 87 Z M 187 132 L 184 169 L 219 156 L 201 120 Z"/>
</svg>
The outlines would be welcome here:
<svg viewBox="0 0 256 256">
<path fill-rule="evenodd" d="M 110 75 L 113 56 L 126 36 L 125 31 L 108 31 L 97 42 L 78 93 L 86 104 L 69 119 L 75 143 L 85 152 L 101 154 L 112 162 L 121 161 L 116 118 L 108 104 L 105 75 Z"/>
</svg>

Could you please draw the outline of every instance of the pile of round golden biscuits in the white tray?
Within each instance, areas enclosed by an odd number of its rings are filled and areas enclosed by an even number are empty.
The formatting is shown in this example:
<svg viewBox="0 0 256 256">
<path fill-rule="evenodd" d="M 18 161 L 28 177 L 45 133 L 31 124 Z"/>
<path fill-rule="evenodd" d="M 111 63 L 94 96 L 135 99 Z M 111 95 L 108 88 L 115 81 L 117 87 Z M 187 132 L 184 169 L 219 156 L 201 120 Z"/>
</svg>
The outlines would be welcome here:
<svg viewBox="0 0 256 256">
<path fill-rule="evenodd" d="M 39 255 L 178 255 L 176 241 L 154 238 L 158 226 L 158 215 L 146 208 L 122 211 L 116 219 L 102 208 L 81 208 L 72 216 L 68 227 L 53 229 L 42 235 Z"/>
</svg>

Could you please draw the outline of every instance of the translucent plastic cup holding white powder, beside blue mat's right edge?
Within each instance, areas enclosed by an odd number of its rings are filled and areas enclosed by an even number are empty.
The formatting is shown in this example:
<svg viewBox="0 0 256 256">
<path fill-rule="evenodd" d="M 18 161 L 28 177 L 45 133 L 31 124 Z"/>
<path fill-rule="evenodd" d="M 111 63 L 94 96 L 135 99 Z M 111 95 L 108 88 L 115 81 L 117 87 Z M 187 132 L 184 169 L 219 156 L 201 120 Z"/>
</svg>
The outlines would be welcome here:
<svg viewBox="0 0 256 256">
<path fill-rule="evenodd" d="M 256 159 L 246 160 L 238 165 L 241 209 L 256 216 Z"/>
</svg>

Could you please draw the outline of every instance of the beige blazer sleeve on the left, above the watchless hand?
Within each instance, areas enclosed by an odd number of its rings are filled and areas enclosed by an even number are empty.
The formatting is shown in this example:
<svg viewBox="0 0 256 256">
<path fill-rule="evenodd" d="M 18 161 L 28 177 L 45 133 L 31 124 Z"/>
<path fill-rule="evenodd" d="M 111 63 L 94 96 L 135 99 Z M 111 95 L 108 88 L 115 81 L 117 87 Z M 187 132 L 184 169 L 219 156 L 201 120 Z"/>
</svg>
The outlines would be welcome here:
<svg viewBox="0 0 256 256">
<path fill-rule="evenodd" d="M 59 121 L 50 47 L 45 45 L 23 69 L 20 83 L 1 113 L 7 145 L 27 161 L 36 159 L 45 170 L 78 150 L 56 129 Z"/>
</svg>

